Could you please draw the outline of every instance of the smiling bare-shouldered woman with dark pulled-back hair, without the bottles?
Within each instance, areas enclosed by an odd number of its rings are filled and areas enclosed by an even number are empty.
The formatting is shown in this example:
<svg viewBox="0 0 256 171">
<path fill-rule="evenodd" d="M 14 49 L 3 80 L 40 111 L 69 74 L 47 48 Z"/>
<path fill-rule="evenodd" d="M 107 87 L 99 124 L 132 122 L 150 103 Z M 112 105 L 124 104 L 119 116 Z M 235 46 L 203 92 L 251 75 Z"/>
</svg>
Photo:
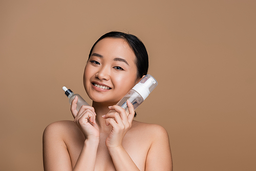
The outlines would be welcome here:
<svg viewBox="0 0 256 171">
<path fill-rule="evenodd" d="M 77 111 L 76 97 L 71 104 L 74 121 L 46 127 L 45 170 L 172 170 L 165 129 L 133 120 L 129 101 L 129 114 L 115 105 L 147 69 L 147 52 L 136 36 L 121 32 L 101 36 L 90 51 L 83 76 L 92 106 Z"/>
</svg>

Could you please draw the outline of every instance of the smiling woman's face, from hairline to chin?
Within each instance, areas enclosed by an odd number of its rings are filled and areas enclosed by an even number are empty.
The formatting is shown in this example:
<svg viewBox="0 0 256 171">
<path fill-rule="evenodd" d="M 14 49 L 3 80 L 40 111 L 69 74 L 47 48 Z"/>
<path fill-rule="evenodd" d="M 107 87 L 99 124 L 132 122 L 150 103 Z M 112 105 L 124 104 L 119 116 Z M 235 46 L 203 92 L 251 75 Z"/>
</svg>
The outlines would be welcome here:
<svg viewBox="0 0 256 171">
<path fill-rule="evenodd" d="M 121 38 L 103 38 L 84 69 L 83 85 L 95 102 L 117 103 L 140 80 L 136 56 Z"/>
</svg>

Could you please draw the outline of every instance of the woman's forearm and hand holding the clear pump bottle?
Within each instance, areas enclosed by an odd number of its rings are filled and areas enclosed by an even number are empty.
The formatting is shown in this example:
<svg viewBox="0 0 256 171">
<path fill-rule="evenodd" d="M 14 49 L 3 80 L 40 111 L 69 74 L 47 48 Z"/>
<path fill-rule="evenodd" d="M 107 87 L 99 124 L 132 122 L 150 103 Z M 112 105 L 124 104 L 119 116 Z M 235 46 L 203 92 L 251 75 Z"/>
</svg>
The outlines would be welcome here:
<svg viewBox="0 0 256 171">
<path fill-rule="evenodd" d="M 120 106 L 114 105 L 110 106 L 110 110 L 115 110 L 115 113 L 108 113 L 105 116 L 102 116 L 106 119 L 106 125 L 112 126 L 111 133 L 108 138 L 106 138 L 106 147 L 108 147 L 117 171 L 139 170 L 122 146 L 123 137 L 131 128 L 135 114 L 133 104 L 129 100 L 127 100 L 126 103 L 129 107 L 129 114 L 126 114 L 124 109 Z"/>
</svg>

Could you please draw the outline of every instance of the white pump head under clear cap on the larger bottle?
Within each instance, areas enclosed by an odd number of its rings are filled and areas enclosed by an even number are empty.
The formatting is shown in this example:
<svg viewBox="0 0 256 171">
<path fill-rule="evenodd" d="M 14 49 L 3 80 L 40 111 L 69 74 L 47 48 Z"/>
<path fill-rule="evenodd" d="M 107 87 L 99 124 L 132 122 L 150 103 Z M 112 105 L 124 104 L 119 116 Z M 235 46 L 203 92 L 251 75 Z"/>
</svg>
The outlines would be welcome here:
<svg viewBox="0 0 256 171">
<path fill-rule="evenodd" d="M 143 100 L 145 100 L 157 87 L 157 84 L 157 80 L 150 74 L 147 74 L 133 87 L 133 90 L 137 91 L 142 96 Z"/>
</svg>

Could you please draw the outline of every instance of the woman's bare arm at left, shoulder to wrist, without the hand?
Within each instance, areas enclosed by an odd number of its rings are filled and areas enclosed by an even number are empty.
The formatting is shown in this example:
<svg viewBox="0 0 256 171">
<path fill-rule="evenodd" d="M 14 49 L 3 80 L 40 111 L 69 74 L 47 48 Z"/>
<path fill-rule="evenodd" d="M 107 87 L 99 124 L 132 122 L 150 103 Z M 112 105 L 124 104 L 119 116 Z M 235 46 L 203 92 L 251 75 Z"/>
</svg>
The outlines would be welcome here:
<svg viewBox="0 0 256 171">
<path fill-rule="evenodd" d="M 43 157 L 45 171 L 94 170 L 98 140 L 84 141 L 77 162 L 72 168 L 68 147 L 65 142 L 72 126 L 69 121 L 59 121 L 48 125 L 43 135 Z"/>
</svg>

